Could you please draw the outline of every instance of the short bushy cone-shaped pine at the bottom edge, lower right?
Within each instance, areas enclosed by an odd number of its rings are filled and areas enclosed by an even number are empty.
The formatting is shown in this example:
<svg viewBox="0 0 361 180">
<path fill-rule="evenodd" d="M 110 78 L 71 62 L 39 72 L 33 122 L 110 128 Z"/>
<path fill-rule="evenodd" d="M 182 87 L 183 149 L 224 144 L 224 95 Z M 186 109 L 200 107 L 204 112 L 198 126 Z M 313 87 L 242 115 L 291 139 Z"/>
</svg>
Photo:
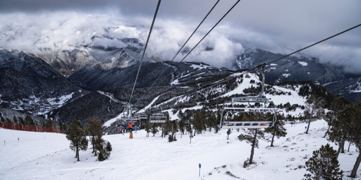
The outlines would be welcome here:
<svg viewBox="0 0 361 180">
<path fill-rule="evenodd" d="M 304 175 L 304 180 L 342 180 L 343 177 L 336 151 L 329 144 L 313 152 L 306 162 L 306 169 L 309 173 Z"/>
</svg>

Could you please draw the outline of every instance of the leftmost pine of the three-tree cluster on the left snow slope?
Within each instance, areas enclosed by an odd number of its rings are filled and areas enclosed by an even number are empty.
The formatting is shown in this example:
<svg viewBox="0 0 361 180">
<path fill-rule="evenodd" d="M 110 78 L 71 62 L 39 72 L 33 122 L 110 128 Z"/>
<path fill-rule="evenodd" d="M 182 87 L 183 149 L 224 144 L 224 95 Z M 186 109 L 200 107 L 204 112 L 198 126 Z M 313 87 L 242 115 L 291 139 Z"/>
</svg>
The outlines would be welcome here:
<svg viewBox="0 0 361 180">
<path fill-rule="evenodd" d="M 79 149 L 85 151 L 88 148 L 88 140 L 86 139 L 86 132 L 79 120 L 73 120 L 66 133 L 66 138 L 70 141 L 70 149 L 75 151 L 75 157 L 79 159 Z"/>
</svg>

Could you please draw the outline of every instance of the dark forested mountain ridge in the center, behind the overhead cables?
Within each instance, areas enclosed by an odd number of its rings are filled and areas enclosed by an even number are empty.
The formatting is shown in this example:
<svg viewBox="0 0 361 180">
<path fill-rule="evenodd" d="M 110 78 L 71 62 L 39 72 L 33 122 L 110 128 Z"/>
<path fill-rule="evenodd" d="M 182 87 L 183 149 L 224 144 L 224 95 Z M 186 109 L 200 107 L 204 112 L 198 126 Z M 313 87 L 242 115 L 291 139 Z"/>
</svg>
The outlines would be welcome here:
<svg viewBox="0 0 361 180">
<path fill-rule="evenodd" d="M 77 81 L 91 90 L 101 90 L 107 87 L 132 87 L 138 69 L 139 64 L 111 69 L 95 65 L 77 71 L 69 79 Z M 162 74 L 162 72 L 164 73 Z M 136 87 L 150 87 L 161 74 L 162 76 L 157 80 L 155 86 L 186 86 L 187 83 L 193 83 L 194 80 L 229 75 L 230 71 L 204 63 L 144 62 L 139 72 Z"/>
</svg>

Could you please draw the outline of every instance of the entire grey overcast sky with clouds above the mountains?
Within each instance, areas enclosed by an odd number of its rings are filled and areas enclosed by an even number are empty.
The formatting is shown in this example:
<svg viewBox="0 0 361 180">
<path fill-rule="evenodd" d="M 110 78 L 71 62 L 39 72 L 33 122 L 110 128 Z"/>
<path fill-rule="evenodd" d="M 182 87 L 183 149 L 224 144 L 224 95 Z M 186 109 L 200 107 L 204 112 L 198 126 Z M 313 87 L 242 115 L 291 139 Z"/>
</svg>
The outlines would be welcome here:
<svg viewBox="0 0 361 180">
<path fill-rule="evenodd" d="M 93 35 L 145 41 L 158 0 L 1 0 L 0 47 L 38 52 L 97 43 Z M 216 0 L 163 0 L 148 55 L 174 56 Z M 236 0 L 221 0 L 189 42 L 195 43 Z M 228 67 L 246 47 L 288 53 L 361 23 L 361 0 L 241 0 L 186 61 Z M 105 31 L 105 28 L 110 28 Z M 203 51 L 206 47 L 212 51 Z M 361 73 L 361 27 L 303 54 Z M 176 60 L 182 57 L 176 58 Z"/>
</svg>

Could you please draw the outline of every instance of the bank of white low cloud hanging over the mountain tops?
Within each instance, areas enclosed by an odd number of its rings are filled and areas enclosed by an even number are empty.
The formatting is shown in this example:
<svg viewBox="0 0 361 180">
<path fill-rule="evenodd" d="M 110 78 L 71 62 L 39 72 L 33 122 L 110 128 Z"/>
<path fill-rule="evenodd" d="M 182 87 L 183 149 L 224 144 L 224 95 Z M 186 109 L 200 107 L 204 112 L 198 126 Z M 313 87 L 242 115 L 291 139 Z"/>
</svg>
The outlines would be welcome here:
<svg viewBox="0 0 361 180">
<path fill-rule="evenodd" d="M 151 18 L 124 15 L 116 9 L 96 13 L 75 10 L 7 12 L 0 14 L 0 47 L 32 53 L 40 53 L 45 48 L 70 50 L 88 44 L 121 48 L 125 44 L 117 38 L 137 38 L 145 43 Z M 267 31 L 254 28 L 255 26 L 235 24 L 232 18 L 234 17 L 230 16 L 229 21 L 225 20 L 217 26 L 184 61 L 232 68 L 234 59 L 245 50 L 244 47 L 286 54 L 333 35 L 328 31 L 303 38 L 305 34 L 302 30 L 299 30 L 299 36 L 280 34 L 282 31 L 277 32 L 275 27 L 270 27 L 270 31 Z M 192 49 L 213 26 L 212 20 L 199 28 L 186 45 L 187 50 Z M 164 60 L 172 59 L 198 23 L 187 18 L 160 14 L 146 54 L 159 56 Z M 340 28 L 339 31 L 341 30 L 344 29 Z M 357 33 L 343 34 L 342 38 L 324 42 L 302 54 L 316 57 L 321 63 L 343 67 L 349 73 L 361 73 L 361 44 L 358 39 L 361 38 Z M 178 54 L 175 61 L 180 61 L 184 55 L 185 53 Z"/>
</svg>

